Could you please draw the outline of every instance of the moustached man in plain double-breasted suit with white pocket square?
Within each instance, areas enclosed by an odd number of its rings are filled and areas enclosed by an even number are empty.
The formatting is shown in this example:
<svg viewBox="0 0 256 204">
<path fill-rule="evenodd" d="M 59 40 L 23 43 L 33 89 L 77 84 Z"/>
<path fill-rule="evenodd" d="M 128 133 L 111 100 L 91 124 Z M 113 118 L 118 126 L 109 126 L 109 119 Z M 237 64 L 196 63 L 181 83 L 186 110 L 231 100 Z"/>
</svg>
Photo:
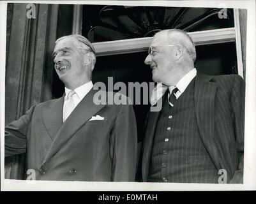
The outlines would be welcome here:
<svg viewBox="0 0 256 204">
<path fill-rule="evenodd" d="M 131 105 L 94 103 L 93 45 L 80 35 L 64 36 L 53 56 L 65 94 L 6 126 L 5 156 L 26 152 L 36 180 L 134 181 L 135 114 Z"/>
</svg>

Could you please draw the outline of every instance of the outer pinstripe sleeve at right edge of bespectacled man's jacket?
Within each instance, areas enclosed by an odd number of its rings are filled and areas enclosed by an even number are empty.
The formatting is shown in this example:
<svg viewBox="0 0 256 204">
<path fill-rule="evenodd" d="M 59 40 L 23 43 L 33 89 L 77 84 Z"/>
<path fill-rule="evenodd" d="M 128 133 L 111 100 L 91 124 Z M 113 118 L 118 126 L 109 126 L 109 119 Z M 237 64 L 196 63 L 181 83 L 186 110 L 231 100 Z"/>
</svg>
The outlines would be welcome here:
<svg viewBox="0 0 256 204">
<path fill-rule="evenodd" d="M 245 141 L 245 82 L 236 76 L 236 83 L 232 89 L 231 108 L 238 154 L 238 165 L 234 172 L 230 184 L 243 183 L 243 161 L 244 161 L 244 141 Z"/>
</svg>

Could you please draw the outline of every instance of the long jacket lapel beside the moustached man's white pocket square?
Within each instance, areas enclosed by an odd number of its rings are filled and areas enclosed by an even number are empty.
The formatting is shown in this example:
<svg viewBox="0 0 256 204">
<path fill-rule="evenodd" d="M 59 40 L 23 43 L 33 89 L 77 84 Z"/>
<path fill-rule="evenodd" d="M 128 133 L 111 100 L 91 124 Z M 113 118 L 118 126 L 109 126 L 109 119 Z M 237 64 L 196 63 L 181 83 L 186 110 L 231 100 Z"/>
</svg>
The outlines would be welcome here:
<svg viewBox="0 0 256 204">
<path fill-rule="evenodd" d="M 43 161 L 43 164 L 50 159 L 56 152 L 63 147 L 72 135 L 79 129 L 87 120 L 101 110 L 105 105 L 95 105 L 93 102 L 93 96 L 97 91 L 91 89 L 88 94 L 80 101 L 79 105 L 73 110 L 70 116 L 65 120 L 63 126 L 57 131 L 57 134 L 50 146 L 47 155 Z"/>
</svg>

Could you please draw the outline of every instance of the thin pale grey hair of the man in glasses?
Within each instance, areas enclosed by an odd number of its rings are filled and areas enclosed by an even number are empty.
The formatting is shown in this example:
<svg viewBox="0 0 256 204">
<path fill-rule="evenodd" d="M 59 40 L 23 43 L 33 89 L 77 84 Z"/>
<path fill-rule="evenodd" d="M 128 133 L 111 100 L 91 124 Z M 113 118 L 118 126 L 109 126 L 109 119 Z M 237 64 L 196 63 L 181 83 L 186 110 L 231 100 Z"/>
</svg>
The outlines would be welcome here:
<svg viewBox="0 0 256 204">
<path fill-rule="evenodd" d="M 169 40 L 172 41 L 170 43 L 175 42 L 176 44 L 183 45 L 183 47 L 186 48 L 188 54 L 192 58 L 193 62 L 195 62 L 195 60 L 197 59 L 197 54 L 195 52 L 195 43 L 193 42 L 192 38 L 188 35 L 188 33 L 180 29 L 169 29 L 160 31 L 156 33 L 156 35 L 160 33 L 166 33 Z"/>
</svg>

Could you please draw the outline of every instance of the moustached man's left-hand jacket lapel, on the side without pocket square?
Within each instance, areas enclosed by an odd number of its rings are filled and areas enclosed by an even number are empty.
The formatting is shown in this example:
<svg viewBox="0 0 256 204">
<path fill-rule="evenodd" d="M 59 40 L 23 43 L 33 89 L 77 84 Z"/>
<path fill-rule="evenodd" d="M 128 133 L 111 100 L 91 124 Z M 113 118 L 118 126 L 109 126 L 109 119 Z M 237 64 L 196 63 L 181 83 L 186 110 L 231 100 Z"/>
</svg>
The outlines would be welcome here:
<svg viewBox="0 0 256 204">
<path fill-rule="evenodd" d="M 52 140 L 54 140 L 54 137 L 63 124 L 63 100 L 64 96 L 56 99 L 50 107 L 43 108 L 42 110 L 43 123 Z"/>
</svg>

